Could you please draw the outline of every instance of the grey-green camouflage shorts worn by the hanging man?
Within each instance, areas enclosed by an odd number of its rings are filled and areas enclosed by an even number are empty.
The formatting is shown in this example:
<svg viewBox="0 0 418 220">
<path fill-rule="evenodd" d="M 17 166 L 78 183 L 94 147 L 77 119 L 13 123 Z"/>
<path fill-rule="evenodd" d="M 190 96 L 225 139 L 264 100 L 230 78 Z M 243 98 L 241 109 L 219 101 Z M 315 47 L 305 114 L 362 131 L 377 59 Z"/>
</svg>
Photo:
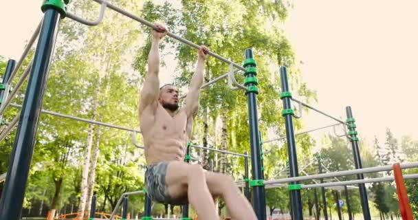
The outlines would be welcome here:
<svg viewBox="0 0 418 220">
<path fill-rule="evenodd" d="M 159 162 L 146 166 L 146 192 L 151 200 L 157 203 L 168 203 L 171 205 L 184 205 L 188 203 L 187 195 L 181 198 L 172 198 L 166 185 L 166 171 L 170 162 Z"/>
</svg>

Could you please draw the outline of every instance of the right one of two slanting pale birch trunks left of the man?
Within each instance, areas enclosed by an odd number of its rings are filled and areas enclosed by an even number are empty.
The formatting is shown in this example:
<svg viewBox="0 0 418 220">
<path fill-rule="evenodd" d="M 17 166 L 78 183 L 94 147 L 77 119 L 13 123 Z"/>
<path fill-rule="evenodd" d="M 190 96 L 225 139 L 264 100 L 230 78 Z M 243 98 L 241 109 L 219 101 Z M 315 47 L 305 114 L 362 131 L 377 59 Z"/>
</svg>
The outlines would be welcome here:
<svg viewBox="0 0 418 220">
<path fill-rule="evenodd" d="M 100 122 L 102 121 L 102 117 L 100 116 Z M 90 170 L 89 170 L 89 178 L 87 184 L 87 202 L 85 206 L 85 212 L 90 213 L 91 208 L 91 197 L 93 197 L 94 191 L 94 183 L 96 181 L 96 166 L 97 166 L 97 159 L 100 154 L 99 144 L 100 144 L 100 127 L 96 127 L 96 132 L 94 133 L 94 149 L 93 153 L 91 154 L 91 163 L 90 163 Z"/>
</svg>

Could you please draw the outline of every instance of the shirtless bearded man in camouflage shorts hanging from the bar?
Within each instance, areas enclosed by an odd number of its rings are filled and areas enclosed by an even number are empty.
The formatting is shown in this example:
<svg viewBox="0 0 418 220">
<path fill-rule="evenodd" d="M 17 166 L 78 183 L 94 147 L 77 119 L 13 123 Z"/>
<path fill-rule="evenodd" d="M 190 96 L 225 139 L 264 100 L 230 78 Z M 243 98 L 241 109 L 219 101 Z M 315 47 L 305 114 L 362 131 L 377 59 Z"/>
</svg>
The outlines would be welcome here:
<svg viewBox="0 0 418 220">
<path fill-rule="evenodd" d="M 254 220 L 248 200 L 228 175 L 210 173 L 199 164 L 184 162 L 188 137 L 199 109 L 199 89 L 208 48 L 198 52 L 195 74 L 190 80 L 186 106 L 179 109 L 178 92 L 173 85 L 159 88 L 159 42 L 166 36 L 163 25 L 155 23 L 148 73 L 141 91 L 140 127 L 144 137 L 146 190 L 153 201 L 181 205 L 190 203 L 199 219 L 218 219 L 213 197 L 223 197 L 232 219 Z"/>
</svg>

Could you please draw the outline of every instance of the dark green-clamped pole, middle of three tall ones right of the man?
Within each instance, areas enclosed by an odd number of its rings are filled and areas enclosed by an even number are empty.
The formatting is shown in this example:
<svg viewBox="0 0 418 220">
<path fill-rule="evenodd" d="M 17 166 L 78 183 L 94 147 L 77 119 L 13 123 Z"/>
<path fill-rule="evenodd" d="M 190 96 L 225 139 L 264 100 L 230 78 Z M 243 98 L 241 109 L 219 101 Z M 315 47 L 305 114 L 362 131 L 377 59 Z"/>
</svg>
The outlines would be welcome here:
<svg viewBox="0 0 418 220">
<path fill-rule="evenodd" d="M 291 104 L 292 94 L 289 91 L 289 83 L 287 82 L 286 67 L 280 68 L 280 76 L 282 83 L 281 99 L 283 100 L 282 115 L 285 118 L 286 140 L 287 140 L 287 154 L 289 155 L 289 171 L 290 177 L 298 177 L 298 157 L 296 155 L 296 142 L 293 124 L 293 109 Z M 297 185 L 297 181 L 292 181 L 291 185 Z M 300 197 L 300 189 L 290 191 L 290 202 L 292 206 L 292 219 L 303 219 L 302 197 Z"/>
</svg>

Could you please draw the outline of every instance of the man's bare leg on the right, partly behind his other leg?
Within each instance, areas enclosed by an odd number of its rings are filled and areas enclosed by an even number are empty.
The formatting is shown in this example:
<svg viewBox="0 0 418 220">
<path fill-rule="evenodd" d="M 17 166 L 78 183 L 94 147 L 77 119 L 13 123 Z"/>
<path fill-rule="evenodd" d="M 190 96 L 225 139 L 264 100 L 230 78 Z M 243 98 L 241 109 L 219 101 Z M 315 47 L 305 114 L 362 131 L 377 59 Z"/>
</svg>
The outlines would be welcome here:
<svg viewBox="0 0 418 220">
<path fill-rule="evenodd" d="M 221 195 L 232 219 L 256 220 L 256 214 L 250 202 L 239 191 L 234 179 L 219 173 L 206 173 L 206 181 L 212 195 Z"/>
</svg>

